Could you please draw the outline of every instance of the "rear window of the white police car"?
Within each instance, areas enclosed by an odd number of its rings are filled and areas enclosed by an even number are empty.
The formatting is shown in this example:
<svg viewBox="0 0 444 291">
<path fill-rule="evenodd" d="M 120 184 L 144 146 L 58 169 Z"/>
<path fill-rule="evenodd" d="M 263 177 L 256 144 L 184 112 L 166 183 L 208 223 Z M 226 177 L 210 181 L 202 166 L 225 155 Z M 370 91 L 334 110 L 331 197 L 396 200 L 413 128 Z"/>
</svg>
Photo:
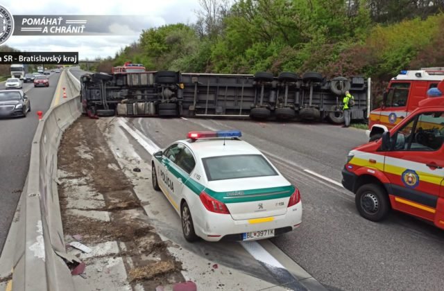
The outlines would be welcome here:
<svg viewBox="0 0 444 291">
<path fill-rule="evenodd" d="M 278 175 L 262 155 L 231 155 L 202 159 L 208 181 Z"/>
</svg>

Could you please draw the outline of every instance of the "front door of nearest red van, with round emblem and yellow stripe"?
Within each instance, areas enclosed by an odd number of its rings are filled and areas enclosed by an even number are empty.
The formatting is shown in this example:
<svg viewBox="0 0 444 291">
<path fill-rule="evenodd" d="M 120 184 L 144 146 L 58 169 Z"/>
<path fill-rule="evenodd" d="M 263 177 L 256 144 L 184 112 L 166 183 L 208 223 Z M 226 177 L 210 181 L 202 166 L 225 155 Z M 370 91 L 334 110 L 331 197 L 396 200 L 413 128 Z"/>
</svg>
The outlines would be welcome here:
<svg viewBox="0 0 444 291">
<path fill-rule="evenodd" d="M 395 132 L 384 172 L 395 209 L 434 220 L 444 178 L 444 112 L 422 112 Z"/>
</svg>

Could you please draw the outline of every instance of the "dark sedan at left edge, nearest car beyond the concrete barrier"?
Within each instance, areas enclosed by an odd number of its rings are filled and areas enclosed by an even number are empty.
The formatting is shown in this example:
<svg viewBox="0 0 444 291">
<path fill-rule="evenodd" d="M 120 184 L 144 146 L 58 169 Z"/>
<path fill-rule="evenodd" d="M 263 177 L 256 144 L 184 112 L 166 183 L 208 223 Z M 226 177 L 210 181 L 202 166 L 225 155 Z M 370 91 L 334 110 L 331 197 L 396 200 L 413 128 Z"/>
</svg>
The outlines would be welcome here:
<svg viewBox="0 0 444 291">
<path fill-rule="evenodd" d="M 24 116 L 31 111 L 31 102 L 22 90 L 0 90 L 0 117 Z"/>
</svg>

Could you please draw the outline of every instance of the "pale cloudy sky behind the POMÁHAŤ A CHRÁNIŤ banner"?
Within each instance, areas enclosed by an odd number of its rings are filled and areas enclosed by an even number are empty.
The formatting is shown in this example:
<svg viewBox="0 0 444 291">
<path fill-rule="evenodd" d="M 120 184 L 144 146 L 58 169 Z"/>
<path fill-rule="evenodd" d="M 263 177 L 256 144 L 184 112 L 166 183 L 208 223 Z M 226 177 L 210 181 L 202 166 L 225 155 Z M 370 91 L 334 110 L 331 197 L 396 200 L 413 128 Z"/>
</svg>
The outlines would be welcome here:
<svg viewBox="0 0 444 291">
<path fill-rule="evenodd" d="M 196 21 L 198 0 L 19 0 L 1 1 L 12 15 L 134 15 L 129 28 L 115 17 L 112 36 L 21 36 L 12 35 L 5 44 L 20 51 L 78 51 L 80 60 L 114 57 L 120 48 L 139 39 L 142 29 Z M 128 19 L 128 17 L 126 17 Z"/>
</svg>

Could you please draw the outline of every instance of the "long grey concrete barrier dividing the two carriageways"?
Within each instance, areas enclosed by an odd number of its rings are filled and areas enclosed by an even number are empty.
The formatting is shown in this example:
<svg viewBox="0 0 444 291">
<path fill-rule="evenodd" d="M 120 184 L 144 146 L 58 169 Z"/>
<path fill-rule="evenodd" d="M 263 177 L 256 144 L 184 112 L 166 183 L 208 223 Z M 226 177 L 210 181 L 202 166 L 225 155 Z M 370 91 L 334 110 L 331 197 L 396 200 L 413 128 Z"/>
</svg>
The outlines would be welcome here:
<svg viewBox="0 0 444 291">
<path fill-rule="evenodd" d="M 81 114 L 80 82 L 69 71 L 67 76 L 72 85 L 71 94 L 77 92 L 76 97 L 46 112 L 31 146 L 22 213 L 17 224 L 13 290 L 74 290 L 71 272 L 62 258 L 66 252 L 57 188 L 57 155 L 62 133 Z"/>
</svg>

